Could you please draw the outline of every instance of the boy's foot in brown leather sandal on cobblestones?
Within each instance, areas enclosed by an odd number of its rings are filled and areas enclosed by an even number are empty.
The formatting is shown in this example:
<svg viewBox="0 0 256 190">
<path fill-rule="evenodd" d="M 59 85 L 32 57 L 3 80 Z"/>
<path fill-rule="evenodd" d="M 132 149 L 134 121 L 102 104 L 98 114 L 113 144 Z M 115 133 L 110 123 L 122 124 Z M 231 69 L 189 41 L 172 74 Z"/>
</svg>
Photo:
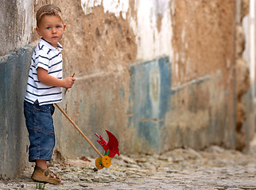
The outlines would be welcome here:
<svg viewBox="0 0 256 190">
<path fill-rule="evenodd" d="M 63 184 L 63 180 L 60 180 L 60 177 L 50 169 L 41 169 L 38 166 L 35 167 L 31 178 L 33 180 L 50 184 Z"/>
</svg>

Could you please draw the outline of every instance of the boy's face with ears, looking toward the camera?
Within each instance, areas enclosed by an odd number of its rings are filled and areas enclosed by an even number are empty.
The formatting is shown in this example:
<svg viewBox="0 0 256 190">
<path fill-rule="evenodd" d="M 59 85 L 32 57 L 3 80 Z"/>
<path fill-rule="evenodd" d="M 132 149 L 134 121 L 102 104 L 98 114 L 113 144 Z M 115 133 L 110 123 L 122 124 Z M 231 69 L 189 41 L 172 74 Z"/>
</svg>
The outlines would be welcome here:
<svg viewBox="0 0 256 190">
<path fill-rule="evenodd" d="M 51 44 L 52 47 L 57 47 L 57 43 L 61 40 L 64 29 L 64 25 L 60 19 L 55 15 L 45 15 L 41 19 L 41 23 L 36 28 L 39 36 Z"/>
</svg>

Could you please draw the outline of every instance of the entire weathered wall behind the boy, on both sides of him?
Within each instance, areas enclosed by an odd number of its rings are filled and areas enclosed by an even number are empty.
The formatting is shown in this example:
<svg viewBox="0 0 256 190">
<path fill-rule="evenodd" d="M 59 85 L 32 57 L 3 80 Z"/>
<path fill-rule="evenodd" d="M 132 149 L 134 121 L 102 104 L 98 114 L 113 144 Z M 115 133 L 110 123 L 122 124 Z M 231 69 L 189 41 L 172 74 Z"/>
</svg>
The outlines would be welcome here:
<svg viewBox="0 0 256 190">
<path fill-rule="evenodd" d="M 38 40 L 33 16 L 45 3 L 60 6 L 64 13 L 64 75 L 76 73 L 76 85 L 60 106 L 99 150 L 103 151 L 94 133 L 107 139 L 104 129 L 117 136 L 121 154 L 161 153 L 184 146 L 201 149 L 211 144 L 238 147 L 238 123 L 243 131 L 250 129 L 250 117 L 238 120 L 237 113 L 238 105 L 250 105 L 250 98 L 242 101 L 248 73 L 237 72 L 241 69 L 235 53 L 236 42 L 242 38 L 236 35 L 235 15 L 244 4 L 221 0 L 6 1 L 0 13 L 9 15 L 8 10 L 14 8 L 14 16 L 0 21 L 18 29 L 0 28 L 2 42 L 8 46 L 0 43 L 0 78 L 5 81 L 0 90 L 2 178 L 14 177 L 27 165 L 29 142 L 22 99 L 33 51 L 29 43 Z M 242 91 L 237 90 L 238 84 L 244 87 Z M 242 114 L 247 116 L 250 109 Z M 54 124 L 56 159 L 97 156 L 57 109 Z M 14 156 L 14 163 L 7 164 Z M 15 165 L 21 167 L 14 169 Z"/>
</svg>

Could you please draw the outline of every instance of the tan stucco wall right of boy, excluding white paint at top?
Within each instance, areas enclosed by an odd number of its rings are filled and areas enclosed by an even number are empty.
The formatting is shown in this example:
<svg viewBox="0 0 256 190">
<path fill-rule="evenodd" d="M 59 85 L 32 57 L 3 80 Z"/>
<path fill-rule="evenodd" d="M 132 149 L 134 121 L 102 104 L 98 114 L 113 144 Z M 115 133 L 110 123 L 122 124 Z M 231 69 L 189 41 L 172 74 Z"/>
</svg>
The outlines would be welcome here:
<svg viewBox="0 0 256 190">
<path fill-rule="evenodd" d="M 124 154 L 211 143 L 234 146 L 234 2 L 171 1 L 174 51 L 165 64 L 137 62 L 139 42 L 129 21 L 140 19 L 139 14 L 127 14 L 125 20 L 96 6 L 85 15 L 77 2 L 58 3 L 67 23 L 65 74 L 82 71 L 61 106 L 96 146 L 94 133 L 107 138 L 106 128 L 117 135 Z M 153 88 L 157 85 L 167 86 Z M 150 96 L 150 88 L 159 92 Z M 167 107 L 155 100 L 166 101 Z M 165 114 L 157 117 L 156 112 Z M 56 150 L 65 158 L 95 156 L 63 118 L 56 111 Z"/>
</svg>

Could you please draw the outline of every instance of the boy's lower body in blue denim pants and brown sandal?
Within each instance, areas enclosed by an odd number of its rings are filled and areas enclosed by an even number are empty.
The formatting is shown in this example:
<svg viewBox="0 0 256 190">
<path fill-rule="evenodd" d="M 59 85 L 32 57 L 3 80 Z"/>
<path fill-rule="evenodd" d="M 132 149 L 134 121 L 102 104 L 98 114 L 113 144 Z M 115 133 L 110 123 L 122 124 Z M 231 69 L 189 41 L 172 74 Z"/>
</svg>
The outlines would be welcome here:
<svg viewBox="0 0 256 190">
<path fill-rule="evenodd" d="M 36 167 L 32 179 L 51 184 L 63 184 L 60 177 L 47 168 L 46 161 L 52 158 L 55 145 L 52 114 L 53 105 L 39 106 L 36 101 L 33 105 L 25 102 L 25 123 L 29 131 L 29 161 L 35 161 Z"/>
</svg>

